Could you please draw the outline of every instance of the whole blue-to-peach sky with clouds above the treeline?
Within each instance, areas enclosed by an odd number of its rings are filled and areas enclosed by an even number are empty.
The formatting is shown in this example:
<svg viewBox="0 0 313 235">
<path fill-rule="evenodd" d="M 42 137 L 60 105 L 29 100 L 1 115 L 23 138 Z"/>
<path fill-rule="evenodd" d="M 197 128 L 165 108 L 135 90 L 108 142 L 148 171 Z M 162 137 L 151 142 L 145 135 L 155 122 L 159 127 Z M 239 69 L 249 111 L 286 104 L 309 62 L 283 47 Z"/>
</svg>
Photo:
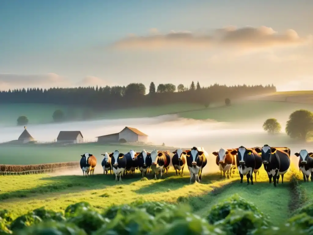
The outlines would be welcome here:
<svg viewBox="0 0 313 235">
<path fill-rule="evenodd" d="M 2 0 L 0 89 L 274 84 L 313 90 L 311 0 Z"/>
</svg>

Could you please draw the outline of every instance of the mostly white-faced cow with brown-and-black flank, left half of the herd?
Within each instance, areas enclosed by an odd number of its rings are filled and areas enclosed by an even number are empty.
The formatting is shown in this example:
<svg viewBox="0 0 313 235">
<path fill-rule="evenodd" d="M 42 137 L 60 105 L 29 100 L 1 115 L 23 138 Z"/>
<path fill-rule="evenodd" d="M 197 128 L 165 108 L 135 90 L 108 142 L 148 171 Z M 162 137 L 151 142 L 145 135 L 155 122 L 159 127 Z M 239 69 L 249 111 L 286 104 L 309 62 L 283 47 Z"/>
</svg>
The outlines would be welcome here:
<svg viewBox="0 0 313 235">
<path fill-rule="evenodd" d="M 171 163 L 171 157 L 169 151 L 151 151 L 151 170 L 154 172 L 154 179 L 156 175 L 160 173 L 160 178 L 162 178 L 163 168 L 166 169 Z"/>
</svg>

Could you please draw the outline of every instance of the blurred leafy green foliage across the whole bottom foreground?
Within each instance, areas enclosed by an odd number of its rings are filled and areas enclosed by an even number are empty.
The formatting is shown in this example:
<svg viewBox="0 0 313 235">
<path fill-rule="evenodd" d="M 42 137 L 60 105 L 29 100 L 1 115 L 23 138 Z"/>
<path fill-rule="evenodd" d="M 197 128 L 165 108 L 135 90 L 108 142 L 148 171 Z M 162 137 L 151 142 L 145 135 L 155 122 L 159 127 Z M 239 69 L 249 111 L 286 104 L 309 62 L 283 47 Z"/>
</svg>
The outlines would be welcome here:
<svg viewBox="0 0 313 235">
<path fill-rule="evenodd" d="M 184 204 L 138 200 L 98 213 L 88 202 L 69 205 L 64 214 L 38 208 L 13 220 L 0 211 L 0 234 L 184 235 L 184 234 L 313 234 L 313 205 L 297 210 L 285 224 L 273 224 L 238 195 L 213 206 L 204 217 Z M 274 226 L 275 225 L 275 226 Z"/>
</svg>

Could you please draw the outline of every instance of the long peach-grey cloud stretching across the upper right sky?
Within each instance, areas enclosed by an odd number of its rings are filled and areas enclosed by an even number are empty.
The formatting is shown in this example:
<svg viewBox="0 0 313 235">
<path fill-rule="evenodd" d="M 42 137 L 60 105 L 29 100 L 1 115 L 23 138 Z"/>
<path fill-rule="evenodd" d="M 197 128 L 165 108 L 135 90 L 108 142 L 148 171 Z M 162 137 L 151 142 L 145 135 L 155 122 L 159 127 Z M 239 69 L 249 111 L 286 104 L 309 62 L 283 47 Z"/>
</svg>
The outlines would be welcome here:
<svg viewBox="0 0 313 235">
<path fill-rule="evenodd" d="M 258 28 L 236 28 L 228 26 L 211 33 L 192 33 L 189 31 L 171 31 L 159 34 L 157 29 L 150 29 L 148 36 L 126 37 L 113 44 L 117 49 L 153 49 L 164 47 L 200 47 L 200 48 L 264 48 L 273 46 L 291 46 L 310 43 L 311 36 L 300 37 L 293 29 L 278 33 L 274 29 L 261 26 Z"/>
</svg>

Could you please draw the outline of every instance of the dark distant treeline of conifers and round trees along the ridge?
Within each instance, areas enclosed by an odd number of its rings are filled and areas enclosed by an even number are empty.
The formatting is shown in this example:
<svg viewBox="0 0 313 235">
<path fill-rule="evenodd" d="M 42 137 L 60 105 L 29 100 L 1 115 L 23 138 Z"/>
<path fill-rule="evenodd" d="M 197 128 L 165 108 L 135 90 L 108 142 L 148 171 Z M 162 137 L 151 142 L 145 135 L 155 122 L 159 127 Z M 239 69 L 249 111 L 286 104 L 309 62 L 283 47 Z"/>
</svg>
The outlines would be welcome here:
<svg viewBox="0 0 313 235">
<path fill-rule="evenodd" d="M 179 84 L 151 82 L 149 93 L 142 83 L 127 86 L 76 87 L 76 88 L 23 88 L 0 91 L 0 103 L 38 103 L 56 105 L 88 105 L 89 107 L 123 108 L 143 105 L 162 105 L 177 102 L 191 102 L 208 105 L 226 98 L 236 99 L 251 95 L 275 92 L 272 85 L 226 86 L 214 84 L 201 87 L 192 81 L 189 87 Z"/>
</svg>

